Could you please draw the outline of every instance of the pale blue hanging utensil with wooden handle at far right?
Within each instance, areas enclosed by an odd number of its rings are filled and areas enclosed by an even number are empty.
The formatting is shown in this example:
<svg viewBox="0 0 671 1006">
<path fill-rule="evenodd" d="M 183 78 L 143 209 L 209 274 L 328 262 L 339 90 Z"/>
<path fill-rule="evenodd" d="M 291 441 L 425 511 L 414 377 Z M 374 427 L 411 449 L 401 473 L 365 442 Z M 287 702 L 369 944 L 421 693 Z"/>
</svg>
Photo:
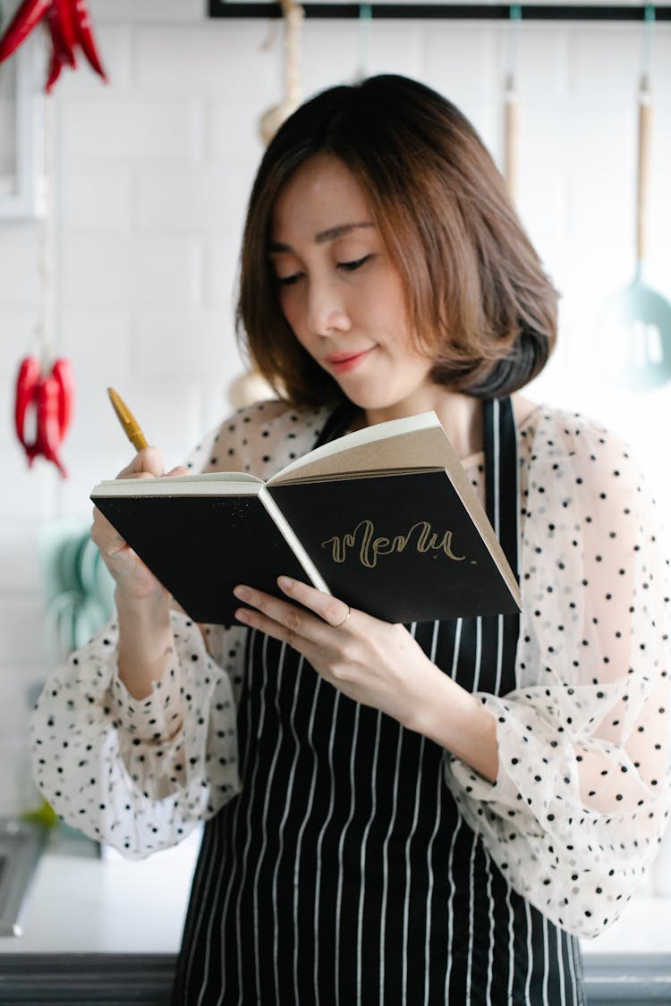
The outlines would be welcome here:
<svg viewBox="0 0 671 1006">
<path fill-rule="evenodd" d="M 646 8 L 648 47 L 654 10 Z M 648 48 L 649 51 L 649 48 Z M 644 59 L 644 66 L 649 55 Z M 601 358 L 615 383 L 633 390 L 671 379 L 671 304 L 645 281 L 652 139 L 652 93 L 647 68 L 638 94 L 636 268 L 634 279 L 607 305 L 601 320 Z"/>
</svg>

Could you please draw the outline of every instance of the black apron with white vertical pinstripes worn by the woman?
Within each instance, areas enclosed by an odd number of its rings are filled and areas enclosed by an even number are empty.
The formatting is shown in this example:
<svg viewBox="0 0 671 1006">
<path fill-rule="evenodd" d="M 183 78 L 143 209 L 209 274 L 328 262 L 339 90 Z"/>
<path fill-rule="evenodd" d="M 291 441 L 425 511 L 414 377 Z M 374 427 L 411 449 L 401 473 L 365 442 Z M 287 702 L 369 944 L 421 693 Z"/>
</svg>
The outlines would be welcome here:
<svg viewBox="0 0 671 1006">
<path fill-rule="evenodd" d="M 516 571 L 509 399 L 485 414 L 487 512 Z M 318 443 L 347 429 L 331 416 Z M 469 691 L 515 687 L 519 619 L 417 623 Z M 583 1003 L 576 941 L 506 883 L 444 782 L 445 751 L 250 633 L 240 795 L 205 825 L 173 1006 Z"/>
</svg>

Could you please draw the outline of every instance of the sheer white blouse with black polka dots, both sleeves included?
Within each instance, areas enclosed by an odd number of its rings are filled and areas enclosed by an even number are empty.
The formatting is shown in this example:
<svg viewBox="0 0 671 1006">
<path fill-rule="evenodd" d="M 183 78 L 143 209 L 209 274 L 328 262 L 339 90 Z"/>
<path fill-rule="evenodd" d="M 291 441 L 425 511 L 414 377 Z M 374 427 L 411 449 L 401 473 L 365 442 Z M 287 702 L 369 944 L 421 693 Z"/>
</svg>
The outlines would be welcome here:
<svg viewBox="0 0 671 1006">
<path fill-rule="evenodd" d="M 326 415 L 242 409 L 189 466 L 269 478 L 311 449 Z M 635 890 L 668 814 L 668 563 L 617 436 L 537 407 L 518 443 L 517 686 L 481 695 L 497 720 L 499 774 L 489 783 L 446 751 L 445 782 L 509 883 L 563 929 L 594 936 Z M 481 494 L 482 460 L 466 462 Z M 130 857 L 175 844 L 239 788 L 246 629 L 172 619 L 170 666 L 149 698 L 119 680 L 111 623 L 51 675 L 31 716 L 45 797 Z"/>
</svg>

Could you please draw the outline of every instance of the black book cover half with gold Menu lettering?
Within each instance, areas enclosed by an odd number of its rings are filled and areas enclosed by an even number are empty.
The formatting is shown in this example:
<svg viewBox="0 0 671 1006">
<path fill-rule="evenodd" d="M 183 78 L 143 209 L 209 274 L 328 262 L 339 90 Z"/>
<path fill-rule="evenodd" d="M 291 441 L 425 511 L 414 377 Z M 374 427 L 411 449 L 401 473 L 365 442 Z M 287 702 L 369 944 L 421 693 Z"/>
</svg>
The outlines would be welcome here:
<svg viewBox="0 0 671 1006">
<path fill-rule="evenodd" d="M 388 622 L 517 612 L 445 471 L 276 485 L 331 593 Z"/>
</svg>

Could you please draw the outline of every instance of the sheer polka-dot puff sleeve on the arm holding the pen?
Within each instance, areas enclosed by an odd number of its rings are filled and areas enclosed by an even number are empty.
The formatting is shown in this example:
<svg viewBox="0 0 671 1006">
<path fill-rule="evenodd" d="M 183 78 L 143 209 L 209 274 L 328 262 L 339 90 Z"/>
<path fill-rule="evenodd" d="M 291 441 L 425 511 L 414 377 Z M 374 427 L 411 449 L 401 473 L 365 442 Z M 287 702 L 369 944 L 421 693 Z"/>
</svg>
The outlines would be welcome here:
<svg viewBox="0 0 671 1006">
<path fill-rule="evenodd" d="M 119 679 L 112 623 L 50 677 L 31 716 L 35 780 L 53 809 L 129 858 L 179 842 L 239 789 L 241 630 L 228 630 L 219 665 L 197 626 L 171 620 L 170 664 L 148 698 Z"/>
</svg>

